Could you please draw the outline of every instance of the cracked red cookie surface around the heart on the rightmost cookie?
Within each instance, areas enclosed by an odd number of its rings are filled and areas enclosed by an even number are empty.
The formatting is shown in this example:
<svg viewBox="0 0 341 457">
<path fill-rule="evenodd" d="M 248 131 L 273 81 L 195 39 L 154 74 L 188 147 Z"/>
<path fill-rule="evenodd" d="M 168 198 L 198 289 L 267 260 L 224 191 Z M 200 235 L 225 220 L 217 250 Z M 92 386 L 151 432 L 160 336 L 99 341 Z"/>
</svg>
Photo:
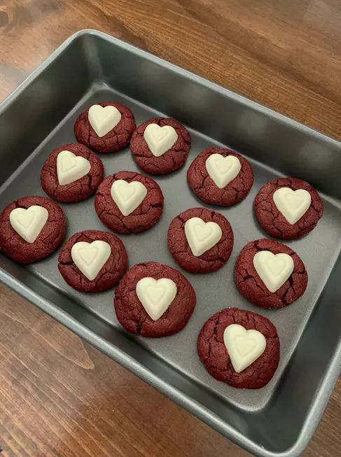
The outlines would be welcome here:
<svg viewBox="0 0 341 457">
<path fill-rule="evenodd" d="M 274 192 L 280 188 L 304 189 L 309 192 L 312 202 L 297 223 L 291 225 L 274 204 Z M 316 190 L 298 178 L 279 178 L 266 183 L 259 190 L 253 203 L 258 222 L 271 237 L 296 239 L 311 232 L 323 214 L 323 202 Z"/>
</svg>

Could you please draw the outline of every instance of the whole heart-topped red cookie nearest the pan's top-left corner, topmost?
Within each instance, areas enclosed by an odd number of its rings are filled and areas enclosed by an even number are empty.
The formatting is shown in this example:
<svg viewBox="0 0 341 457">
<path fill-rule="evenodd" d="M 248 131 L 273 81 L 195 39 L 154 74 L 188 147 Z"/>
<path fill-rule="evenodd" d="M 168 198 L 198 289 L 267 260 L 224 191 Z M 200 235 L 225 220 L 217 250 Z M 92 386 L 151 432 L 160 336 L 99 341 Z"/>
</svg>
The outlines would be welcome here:
<svg viewBox="0 0 341 457">
<path fill-rule="evenodd" d="M 96 153 L 114 153 L 127 146 L 135 128 L 134 115 L 127 106 L 101 101 L 78 116 L 74 133 L 79 143 Z"/>
</svg>

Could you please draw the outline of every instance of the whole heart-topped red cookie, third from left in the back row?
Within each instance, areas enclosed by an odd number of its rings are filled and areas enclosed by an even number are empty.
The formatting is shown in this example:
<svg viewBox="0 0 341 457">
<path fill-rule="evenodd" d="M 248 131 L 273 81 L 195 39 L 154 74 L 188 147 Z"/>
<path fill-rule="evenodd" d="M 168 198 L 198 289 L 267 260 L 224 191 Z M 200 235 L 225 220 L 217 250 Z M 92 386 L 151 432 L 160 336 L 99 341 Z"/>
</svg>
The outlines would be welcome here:
<svg viewBox="0 0 341 457">
<path fill-rule="evenodd" d="M 204 202 L 231 206 L 249 193 L 253 170 L 248 160 L 228 148 L 207 148 L 190 164 L 187 181 Z"/>
</svg>

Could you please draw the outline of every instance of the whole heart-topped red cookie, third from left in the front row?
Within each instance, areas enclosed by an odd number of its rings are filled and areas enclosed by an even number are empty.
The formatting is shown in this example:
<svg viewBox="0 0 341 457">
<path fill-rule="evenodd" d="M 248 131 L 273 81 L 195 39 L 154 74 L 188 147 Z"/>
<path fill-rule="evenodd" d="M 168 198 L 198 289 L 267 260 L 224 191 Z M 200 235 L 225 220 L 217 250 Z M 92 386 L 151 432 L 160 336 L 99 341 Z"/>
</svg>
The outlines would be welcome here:
<svg viewBox="0 0 341 457">
<path fill-rule="evenodd" d="M 139 263 L 118 283 L 114 306 L 118 321 L 128 332 L 167 337 L 188 323 L 195 291 L 178 270 L 157 262 Z"/>
</svg>

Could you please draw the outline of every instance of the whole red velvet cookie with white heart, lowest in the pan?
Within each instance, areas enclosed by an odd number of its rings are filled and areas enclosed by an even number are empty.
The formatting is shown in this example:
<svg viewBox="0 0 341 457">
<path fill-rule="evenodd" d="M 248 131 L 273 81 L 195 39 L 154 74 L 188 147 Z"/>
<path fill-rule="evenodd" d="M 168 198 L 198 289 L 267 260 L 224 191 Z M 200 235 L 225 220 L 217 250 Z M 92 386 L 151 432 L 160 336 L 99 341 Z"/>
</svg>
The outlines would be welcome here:
<svg viewBox="0 0 341 457">
<path fill-rule="evenodd" d="M 256 330 L 261 335 L 248 334 L 244 329 Z M 248 339 L 253 340 L 253 349 L 245 354 L 247 346 L 242 344 L 247 344 Z M 255 349 L 257 353 L 253 352 Z M 218 381 L 236 388 L 258 389 L 266 386 L 277 370 L 279 337 L 269 319 L 252 311 L 227 308 L 204 323 L 197 339 L 197 352 L 206 370 Z M 253 363 L 242 369 L 251 360 Z"/>
</svg>

